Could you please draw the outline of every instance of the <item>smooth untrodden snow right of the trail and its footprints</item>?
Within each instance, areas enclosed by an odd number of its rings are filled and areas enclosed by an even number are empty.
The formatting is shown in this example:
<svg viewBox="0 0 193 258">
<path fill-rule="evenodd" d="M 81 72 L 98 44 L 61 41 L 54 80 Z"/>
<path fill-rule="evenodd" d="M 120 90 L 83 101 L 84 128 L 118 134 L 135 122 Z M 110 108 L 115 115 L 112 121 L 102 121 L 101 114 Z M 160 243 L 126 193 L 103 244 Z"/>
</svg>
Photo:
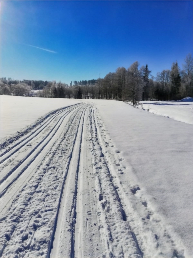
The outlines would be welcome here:
<svg viewBox="0 0 193 258">
<path fill-rule="evenodd" d="M 96 106 L 127 171 L 131 167 L 133 172 L 122 175 L 126 189 L 133 181 L 146 191 L 148 200 L 143 201 L 172 225 L 186 245 L 185 257 L 192 257 L 192 124 L 155 116 L 121 101 L 101 100 Z"/>
</svg>

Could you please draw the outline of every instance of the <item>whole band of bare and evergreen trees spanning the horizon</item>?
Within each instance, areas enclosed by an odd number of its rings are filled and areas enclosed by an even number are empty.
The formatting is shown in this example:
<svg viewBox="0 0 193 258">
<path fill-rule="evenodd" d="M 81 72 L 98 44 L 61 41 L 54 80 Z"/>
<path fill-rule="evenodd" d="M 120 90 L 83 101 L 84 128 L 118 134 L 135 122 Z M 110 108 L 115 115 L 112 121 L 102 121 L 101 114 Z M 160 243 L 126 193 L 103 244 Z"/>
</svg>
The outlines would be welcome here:
<svg viewBox="0 0 193 258">
<path fill-rule="evenodd" d="M 18 81 L 11 78 L 0 78 L 0 94 L 16 96 L 78 98 L 78 99 L 115 99 L 132 101 L 139 100 L 179 100 L 193 97 L 193 58 L 188 54 L 182 64 L 172 63 L 171 69 L 151 75 L 148 64 L 138 61 L 126 69 L 118 67 L 115 72 L 108 73 L 104 78 L 71 81 L 70 85 L 61 81 Z"/>
</svg>

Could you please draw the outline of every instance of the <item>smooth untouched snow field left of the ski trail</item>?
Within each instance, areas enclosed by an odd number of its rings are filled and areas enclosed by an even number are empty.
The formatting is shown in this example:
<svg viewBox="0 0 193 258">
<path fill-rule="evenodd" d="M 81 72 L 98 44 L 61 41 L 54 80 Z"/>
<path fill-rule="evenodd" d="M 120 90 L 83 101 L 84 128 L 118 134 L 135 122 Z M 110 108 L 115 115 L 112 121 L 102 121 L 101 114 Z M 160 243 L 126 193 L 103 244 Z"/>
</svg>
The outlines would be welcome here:
<svg viewBox="0 0 193 258">
<path fill-rule="evenodd" d="M 0 95 L 0 139 L 20 131 L 47 112 L 80 102 L 77 99 Z"/>
</svg>

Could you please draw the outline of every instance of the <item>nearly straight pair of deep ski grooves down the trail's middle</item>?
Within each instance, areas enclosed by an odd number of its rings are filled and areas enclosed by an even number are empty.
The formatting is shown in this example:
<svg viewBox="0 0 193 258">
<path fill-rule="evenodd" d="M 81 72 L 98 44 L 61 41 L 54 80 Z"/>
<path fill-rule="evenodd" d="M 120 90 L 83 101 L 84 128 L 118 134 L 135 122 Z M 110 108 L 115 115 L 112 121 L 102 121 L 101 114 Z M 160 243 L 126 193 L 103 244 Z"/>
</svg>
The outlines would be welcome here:
<svg viewBox="0 0 193 258">
<path fill-rule="evenodd" d="M 58 216 L 59 216 L 59 210 L 60 210 L 60 206 L 61 206 L 62 195 L 63 195 L 63 191 L 64 191 L 64 187 L 65 187 L 65 181 L 66 181 L 66 178 L 67 178 L 67 175 L 68 175 L 69 165 L 70 165 L 70 162 L 71 162 L 72 153 L 73 153 L 73 150 L 74 150 L 74 146 L 75 146 L 75 142 L 76 142 L 77 133 L 78 133 L 78 129 L 79 129 L 79 126 L 80 126 L 81 118 L 83 117 L 83 123 L 84 123 L 84 116 L 85 116 L 85 111 L 86 111 L 87 107 L 88 107 L 88 105 L 84 108 L 84 110 L 82 111 L 82 114 L 80 116 L 79 123 L 78 123 L 78 126 L 77 126 L 77 131 L 76 131 L 75 138 L 74 138 L 74 141 L 73 141 L 73 147 L 72 147 L 71 154 L 70 154 L 70 157 L 69 157 L 69 160 L 68 160 L 65 176 L 63 178 L 62 188 L 61 188 L 60 197 L 59 197 L 59 204 L 58 204 L 58 207 L 57 207 L 57 212 L 56 212 L 56 216 L 55 216 L 53 232 L 52 232 L 51 240 L 50 240 L 50 243 L 49 243 L 47 257 L 50 257 L 51 249 L 53 248 L 54 235 L 55 235 L 55 232 L 56 232 L 57 220 L 58 220 Z M 83 113 L 84 113 L 84 115 L 83 115 Z M 82 124 L 82 129 L 81 129 L 81 141 L 82 141 L 82 132 L 83 132 L 83 124 Z M 77 198 L 77 180 L 78 180 L 78 171 L 79 171 L 80 150 L 81 150 L 81 143 L 80 143 L 80 147 L 79 147 L 78 167 L 77 167 L 76 178 L 75 178 L 75 194 L 74 194 L 73 203 L 72 203 L 72 207 L 74 207 L 74 208 L 76 207 L 76 198 Z M 73 218 L 74 218 L 74 221 L 73 221 Z M 72 236 L 71 236 L 71 257 L 73 257 L 72 255 L 74 255 L 75 214 L 74 214 L 73 218 L 72 218 L 72 225 L 71 225 L 71 233 L 72 233 Z M 73 251 L 72 251 L 72 249 L 73 249 Z"/>
</svg>

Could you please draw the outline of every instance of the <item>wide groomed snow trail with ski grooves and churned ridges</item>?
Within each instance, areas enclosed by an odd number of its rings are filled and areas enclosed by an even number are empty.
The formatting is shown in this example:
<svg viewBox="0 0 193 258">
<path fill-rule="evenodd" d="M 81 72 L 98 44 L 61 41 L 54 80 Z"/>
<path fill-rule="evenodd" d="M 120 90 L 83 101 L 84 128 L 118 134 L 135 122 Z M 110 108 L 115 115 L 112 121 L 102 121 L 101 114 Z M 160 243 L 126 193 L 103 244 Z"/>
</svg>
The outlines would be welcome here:
<svg viewBox="0 0 193 258">
<path fill-rule="evenodd" d="M 30 128 L 0 150 L 0 257 L 184 257 L 146 192 L 122 184 L 94 103 Z"/>
</svg>

